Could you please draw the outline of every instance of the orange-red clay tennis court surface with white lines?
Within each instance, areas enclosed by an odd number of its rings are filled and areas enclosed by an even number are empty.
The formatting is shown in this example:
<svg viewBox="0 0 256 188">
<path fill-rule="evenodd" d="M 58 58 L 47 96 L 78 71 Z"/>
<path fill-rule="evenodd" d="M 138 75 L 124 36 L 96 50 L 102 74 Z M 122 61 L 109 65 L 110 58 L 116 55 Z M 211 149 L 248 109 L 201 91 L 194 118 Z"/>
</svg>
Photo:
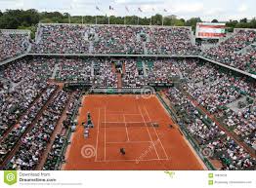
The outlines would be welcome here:
<svg viewBox="0 0 256 188">
<path fill-rule="evenodd" d="M 88 111 L 95 127 L 85 138 Z M 154 95 L 86 95 L 79 114 L 63 169 L 205 169 Z"/>
</svg>

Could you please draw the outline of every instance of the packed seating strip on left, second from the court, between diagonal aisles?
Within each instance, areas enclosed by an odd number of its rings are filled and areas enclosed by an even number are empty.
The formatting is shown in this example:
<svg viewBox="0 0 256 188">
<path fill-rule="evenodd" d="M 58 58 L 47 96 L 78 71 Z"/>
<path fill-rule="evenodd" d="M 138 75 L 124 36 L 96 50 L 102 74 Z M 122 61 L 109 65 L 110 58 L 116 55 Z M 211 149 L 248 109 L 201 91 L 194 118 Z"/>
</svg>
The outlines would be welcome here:
<svg viewBox="0 0 256 188">
<path fill-rule="evenodd" d="M 34 169 L 44 151 L 49 138 L 60 119 L 68 94 L 60 91 L 48 105 L 32 130 L 21 138 L 21 147 L 6 168 Z"/>
</svg>

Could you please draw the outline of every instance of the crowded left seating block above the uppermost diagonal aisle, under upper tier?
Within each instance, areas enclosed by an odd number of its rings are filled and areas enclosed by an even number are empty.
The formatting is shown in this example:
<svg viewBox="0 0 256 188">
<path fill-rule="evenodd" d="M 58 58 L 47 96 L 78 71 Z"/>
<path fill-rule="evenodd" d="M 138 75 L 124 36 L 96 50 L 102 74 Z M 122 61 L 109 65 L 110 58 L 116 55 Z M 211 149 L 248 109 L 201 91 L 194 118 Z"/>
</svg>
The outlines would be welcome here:
<svg viewBox="0 0 256 188">
<path fill-rule="evenodd" d="M 47 88 L 46 79 L 53 69 L 52 61 L 43 66 L 45 58 L 23 58 L 3 67 L 3 76 L 13 82 L 13 89 L 0 93 L 0 135 L 3 135 Z"/>
</svg>

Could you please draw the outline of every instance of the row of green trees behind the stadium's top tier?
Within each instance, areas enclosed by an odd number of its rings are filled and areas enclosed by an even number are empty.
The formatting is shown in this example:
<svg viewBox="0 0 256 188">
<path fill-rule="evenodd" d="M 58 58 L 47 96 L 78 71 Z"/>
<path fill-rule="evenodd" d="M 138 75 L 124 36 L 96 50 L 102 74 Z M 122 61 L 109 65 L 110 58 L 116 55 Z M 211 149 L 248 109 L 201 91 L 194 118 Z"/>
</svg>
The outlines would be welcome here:
<svg viewBox="0 0 256 188">
<path fill-rule="evenodd" d="M 81 23 L 81 16 L 73 16 L 71 17 L 68 13 L 60 13 L 60 12 L 42 12 L 39 13 L 35 9 L 29 9 L 26 11 L 23 10 L 6 10 L 4 12 L 0 11 L 0 28 L 8 28 L 8 29 L 17 29 L 17 28 L 29 28 L 32 29 L 34 25 L 38 22 L 45 23 L 67 23 L 69 22 L 69 17 L 71 22 L 73 23 Z M 123 24 L 124 19 L 126 24 L 138 24 L 137 16 L 127 16 L 127 17 L 114 17 L 110 18 L 111 24 Z M 84 16 L 84 23 L 94 24 L 96 22 L 96 17 L 92 16 Z M 97 16 L 97 22 L 99 24 L 107 24 L 108 18 L 107 16 Z M 139 18 L 139 24 L 149 25 L 150 18 Z M 200 18 L 192 18 L 192 19 L 174 19 L 174 18 L 164 18 L 164 25 L 175 25 L 175 26 L 192 26 L 192 30 L 195 30 L 195 25 L 197 22 L 201 22 Z M 218 22 L 217 19 L 213 19 L 212 22 Z M 162 24 L 162 15 L 156 14 L 151 17 L 151 23 L 153 25 L 161 25 Z M 242 27 L 242 28 L 256 28 L 256 20 L 252 19 L 248 21 L 248 19 L 240 19 L 230 20 L 226 23 L 226 26 L 229 31 L 233 31 L 234 28 Z"/>
</svg>

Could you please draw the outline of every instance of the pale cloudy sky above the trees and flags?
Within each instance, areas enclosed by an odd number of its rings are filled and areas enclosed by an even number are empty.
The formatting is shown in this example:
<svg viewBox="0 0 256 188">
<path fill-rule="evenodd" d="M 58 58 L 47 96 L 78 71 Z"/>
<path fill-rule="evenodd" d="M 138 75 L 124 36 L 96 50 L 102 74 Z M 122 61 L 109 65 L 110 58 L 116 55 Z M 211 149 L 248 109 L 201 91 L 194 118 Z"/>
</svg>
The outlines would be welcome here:
<svg viewBox="0 0 256 188">
<path fill-rule="evenodd" d="M 109 11 L 109 5 L 113 7 L 113 11 Z M 101 11 L 97 11 L 96 6 Z M 139 7 L 142 13 L 138 11 Z M 73 16 L 97 14 L 149 17 L 160 13 L 165 16 L 176 15 L 180 19 L 200 17 L 203 20 L 256 17 L 256 0 L 0 0 L 2 11 L 31 8 L 40 12 L 68 12 Z M 167 12 L 164 12 L 164 9 Z"/>
</svg>

